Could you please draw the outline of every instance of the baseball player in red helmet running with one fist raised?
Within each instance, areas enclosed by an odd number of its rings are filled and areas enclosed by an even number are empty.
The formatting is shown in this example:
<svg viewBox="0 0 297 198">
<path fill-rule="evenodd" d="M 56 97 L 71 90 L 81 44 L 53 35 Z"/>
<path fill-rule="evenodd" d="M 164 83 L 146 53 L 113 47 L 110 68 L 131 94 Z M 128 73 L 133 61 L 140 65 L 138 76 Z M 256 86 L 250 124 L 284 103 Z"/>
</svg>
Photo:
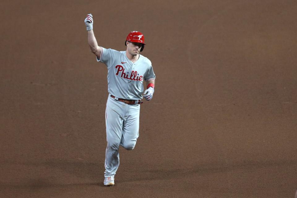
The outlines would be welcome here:
<svg viewBox="0 0 297 198">
<path fill-rule="evenodd" d="M 93 32 L 92 14 L 88 14 L 84 22 L 91 52 L 96 55 L 97 62 L 107 67 L 109 96 L 105 110 L 107 147 L 104 185 L 113 186 L 119 166 L 119 146 L 132 150 L 139 136 L 143 81 L 146 81 L 144 98 L 149 101 L 153 98 L 156 77 L 150 60 L 139 54 L 145 45 L 141 32 L 130 32 L 125 41 L 126 51 L 116 51 L 98 46 Z"/>
</svg>

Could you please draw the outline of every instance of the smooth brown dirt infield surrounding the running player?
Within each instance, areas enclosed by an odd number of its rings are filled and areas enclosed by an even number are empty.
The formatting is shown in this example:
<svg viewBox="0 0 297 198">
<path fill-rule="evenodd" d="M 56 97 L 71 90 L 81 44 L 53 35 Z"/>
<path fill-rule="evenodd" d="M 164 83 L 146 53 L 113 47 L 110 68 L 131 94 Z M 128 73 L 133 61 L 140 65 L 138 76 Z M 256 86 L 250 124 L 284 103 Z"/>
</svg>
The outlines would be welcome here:
<svg viewBox="0 0 297 198">
<path fill-rule="evenodd" d="M 0 8 L 0 197 L 291 197 L 297 3 L 8 1 Z M 156 74 L 133 151 L 104 187 L 107 70 L 132 30 Z"/>
</svg>

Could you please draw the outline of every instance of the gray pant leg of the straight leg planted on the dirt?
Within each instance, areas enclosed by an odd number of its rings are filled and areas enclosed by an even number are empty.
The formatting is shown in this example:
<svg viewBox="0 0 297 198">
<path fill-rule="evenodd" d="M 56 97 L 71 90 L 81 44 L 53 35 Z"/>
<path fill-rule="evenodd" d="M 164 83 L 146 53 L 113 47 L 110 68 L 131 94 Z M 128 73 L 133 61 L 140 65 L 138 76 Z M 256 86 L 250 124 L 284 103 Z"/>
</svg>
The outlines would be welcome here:
<svg viewBox="0 0 297 198">
<path fill-rule="evenodd" d="M 124 104 L 124 103 L 123 103 Z M 106 141 L 105 177 L 114 175 L 119 166 L 119 145 L 122 139 L 123 106 L 113 98 L 108 97 L 105 111 Z"/>
</svg>

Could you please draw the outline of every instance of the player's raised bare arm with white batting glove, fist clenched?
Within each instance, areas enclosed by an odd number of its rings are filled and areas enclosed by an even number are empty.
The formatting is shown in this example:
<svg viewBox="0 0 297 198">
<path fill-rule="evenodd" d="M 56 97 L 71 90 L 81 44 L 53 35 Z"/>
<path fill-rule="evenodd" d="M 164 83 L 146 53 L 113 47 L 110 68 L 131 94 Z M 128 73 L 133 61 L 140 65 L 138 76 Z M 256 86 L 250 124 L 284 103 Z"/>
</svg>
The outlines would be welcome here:
<svg viewBox="0 0 297 198">
<path fill-rule="evenodd" d="M 94 35 L 93 16 L 92 16 L 92 14 L 87 15 L 87 18 L 84 19 L 84 23 L 87 26 L 88 43 L 90 45 L 91 52 L 93 54 L 95 54 L 98 57 L 98 59 L 100 59 L 102 49 L 101 49 L 101 47 L 98 46 L 97 40 L 96 40 L 95 35 Z"/>
</svg>

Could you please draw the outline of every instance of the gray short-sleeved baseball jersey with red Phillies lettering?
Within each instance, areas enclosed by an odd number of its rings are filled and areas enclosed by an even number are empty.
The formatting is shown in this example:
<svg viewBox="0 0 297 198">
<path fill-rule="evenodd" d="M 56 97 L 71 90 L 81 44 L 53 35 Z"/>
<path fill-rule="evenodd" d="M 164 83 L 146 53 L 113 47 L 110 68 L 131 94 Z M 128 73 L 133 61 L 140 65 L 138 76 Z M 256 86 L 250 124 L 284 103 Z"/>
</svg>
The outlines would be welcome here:
<svg viewBox="0 0 297 198">
<path fill-rule="evenodd" d="M 100 59 L 97 57 L 97 61 L 105 63 L 108 69 L 108 92 L 126 100 L 142 99 L 143 81 L 156 78 L 151 61 L 140 55 L 133 63 L 127 58 L 126 51 L 101 49 L 101 56 Z"/>
</svg>

